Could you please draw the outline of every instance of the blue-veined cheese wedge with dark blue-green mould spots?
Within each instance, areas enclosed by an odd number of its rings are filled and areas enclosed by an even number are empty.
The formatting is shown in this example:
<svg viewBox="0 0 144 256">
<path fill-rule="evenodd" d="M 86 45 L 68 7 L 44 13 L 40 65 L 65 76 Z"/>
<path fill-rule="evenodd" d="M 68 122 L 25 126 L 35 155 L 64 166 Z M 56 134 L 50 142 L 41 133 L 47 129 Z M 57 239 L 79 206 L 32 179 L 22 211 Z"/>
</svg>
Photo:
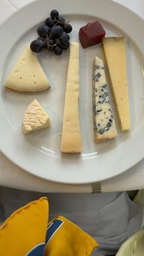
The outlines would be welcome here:
<svg viewBox="0 0 144 256">
<path fill-rule="evenodd" d="M 93 128 L 96 143 L 117 137 L 104 73 L 104 63 L 99 57 L 95 57 L 93 64 Z"/>
</svg>

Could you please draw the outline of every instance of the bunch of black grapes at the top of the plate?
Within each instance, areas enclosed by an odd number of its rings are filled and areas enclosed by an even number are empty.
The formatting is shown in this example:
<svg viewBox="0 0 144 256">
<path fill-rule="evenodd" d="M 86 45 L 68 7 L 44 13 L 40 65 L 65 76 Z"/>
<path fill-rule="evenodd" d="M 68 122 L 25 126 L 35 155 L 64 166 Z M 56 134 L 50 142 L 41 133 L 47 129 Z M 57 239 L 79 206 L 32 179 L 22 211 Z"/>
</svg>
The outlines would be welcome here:
<svg viewBox="0 0 144 256">
<path fill-rule="evenodd" d="M 38 27 L 39 37 L 31 43 L 31 50 L 34 53 L 40 53 L 43 49 L 46 49 L 47 51 L 54 51 L 56 55 L 61 55 L 63 49 L 70 47 L 68 34 L 73 27 L 68 22 L 59 17 L 57 10 L 52 10 L 51 17 L 45 20 L 45 25 Z"/>
</svg>

